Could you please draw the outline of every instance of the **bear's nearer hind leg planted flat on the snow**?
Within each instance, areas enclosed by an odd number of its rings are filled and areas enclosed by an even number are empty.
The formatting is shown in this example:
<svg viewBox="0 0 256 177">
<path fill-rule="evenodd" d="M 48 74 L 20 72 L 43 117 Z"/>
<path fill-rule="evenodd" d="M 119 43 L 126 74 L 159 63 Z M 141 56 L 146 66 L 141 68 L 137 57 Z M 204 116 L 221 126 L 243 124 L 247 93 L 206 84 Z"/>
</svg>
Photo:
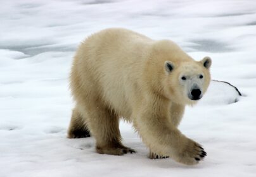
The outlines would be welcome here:
<svg viewBox="0 0 256 177">
<path fill-rule="evenodd" d="M 90 104 L 87 110 L 89 116 L 88 126 L 93 137 L 96 138 L 96 151 L 99 154 L 112 154 L 120 156 L 127 152 L 135 152 L 121 143 L 119 131 L 119 118 L 110 109 L 99 104 Z"/>
</svg>

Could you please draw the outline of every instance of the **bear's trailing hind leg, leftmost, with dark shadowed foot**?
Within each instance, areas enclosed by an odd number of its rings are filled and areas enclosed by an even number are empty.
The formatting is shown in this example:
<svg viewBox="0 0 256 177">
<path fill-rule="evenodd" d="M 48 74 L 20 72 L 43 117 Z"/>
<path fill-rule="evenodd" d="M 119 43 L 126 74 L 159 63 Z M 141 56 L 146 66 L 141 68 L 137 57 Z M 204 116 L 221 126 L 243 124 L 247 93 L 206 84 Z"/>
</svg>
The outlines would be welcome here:
<svg viewBox="0 0 256 177">
<path fill-rule="evenodd" d="M 86 121 L 82 114 L 75 108 L 72 112 L 70 125 L 68 128 L 68 138 L 86 138 L 91 137 L 87 128 Z"/>
</svg>

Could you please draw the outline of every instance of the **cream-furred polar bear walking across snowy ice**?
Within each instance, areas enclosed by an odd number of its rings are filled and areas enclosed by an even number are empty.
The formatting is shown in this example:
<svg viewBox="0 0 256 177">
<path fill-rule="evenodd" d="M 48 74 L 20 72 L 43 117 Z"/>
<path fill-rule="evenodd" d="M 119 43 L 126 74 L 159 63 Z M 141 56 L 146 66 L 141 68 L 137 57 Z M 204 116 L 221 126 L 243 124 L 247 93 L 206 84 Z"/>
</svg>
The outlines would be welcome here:
<svg viewBox="0 0 256 177">
<path fill-rule="evenodd" d="M 210 58 L 195 61 L 170 40 L 131 30 L 109 28 L 91 35 L 72 65 L 75 108 L 68 137 L 93 135 L 99 154 L 135 152 L 121 142 L 118 123 L 124 118 L 150 149 L 150 158 L 197 164 L 206 152 L 177 126 L 184 107 L 206 92 L 210 65 Z"/>
</svg>

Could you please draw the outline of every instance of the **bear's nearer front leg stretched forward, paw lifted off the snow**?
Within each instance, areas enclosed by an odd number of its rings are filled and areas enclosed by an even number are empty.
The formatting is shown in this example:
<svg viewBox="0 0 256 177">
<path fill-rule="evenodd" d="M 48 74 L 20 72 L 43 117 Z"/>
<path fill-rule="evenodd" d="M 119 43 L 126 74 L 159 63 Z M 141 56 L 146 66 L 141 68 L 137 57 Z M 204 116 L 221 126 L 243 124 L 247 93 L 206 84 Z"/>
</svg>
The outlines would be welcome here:
<svg viewBox="0 0 256 177">
<path fill-rule="evenodd" d="M 199 143 L 182 135 L 168 121 L 169 114 L 163 114 L 165 111 L 160 108 L 148 107 L 151 109 L 144 107 L 134 117 L 134 126 L 151 152 L 170 156 L 175 161 L 188 165 L 198 164 L 207 155 Z M 156 113 L 155 110 L 159 112 Z"/>
</svg>

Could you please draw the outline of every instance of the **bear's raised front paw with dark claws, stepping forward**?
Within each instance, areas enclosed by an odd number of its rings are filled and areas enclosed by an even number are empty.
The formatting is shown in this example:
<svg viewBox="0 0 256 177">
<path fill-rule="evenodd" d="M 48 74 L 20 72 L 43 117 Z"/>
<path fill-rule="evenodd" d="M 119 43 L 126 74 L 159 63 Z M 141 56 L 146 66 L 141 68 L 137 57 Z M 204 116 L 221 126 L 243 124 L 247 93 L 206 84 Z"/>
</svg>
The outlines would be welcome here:
<svg viewBox="0 0 256 177">
<path fill-rule="evenodd" d="M 183 164 L 194 165 L 202 161 L 205 156 L 207 156 L 207 153 L 201 145 L 188 138 L 181 152 L 179 152 L 178 161 Z"/>
</svg>

